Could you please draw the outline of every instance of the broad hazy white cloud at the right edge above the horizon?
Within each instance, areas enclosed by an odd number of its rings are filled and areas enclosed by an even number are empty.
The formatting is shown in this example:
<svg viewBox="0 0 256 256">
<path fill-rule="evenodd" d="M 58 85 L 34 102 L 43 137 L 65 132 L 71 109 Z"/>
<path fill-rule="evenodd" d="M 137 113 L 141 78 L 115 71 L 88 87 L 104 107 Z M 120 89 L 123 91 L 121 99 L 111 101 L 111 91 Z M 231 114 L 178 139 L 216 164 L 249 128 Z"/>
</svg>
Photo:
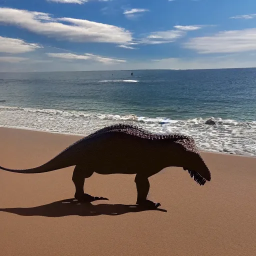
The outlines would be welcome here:
<svg viewBox="0 0 256 256">
<path fill-rule="evenodd" d="M 184 47 L 199 53 L 256 50 L 256 28 L 221 31 L 212 36 L 194 37 L 184 43 Z"/>
</svg>

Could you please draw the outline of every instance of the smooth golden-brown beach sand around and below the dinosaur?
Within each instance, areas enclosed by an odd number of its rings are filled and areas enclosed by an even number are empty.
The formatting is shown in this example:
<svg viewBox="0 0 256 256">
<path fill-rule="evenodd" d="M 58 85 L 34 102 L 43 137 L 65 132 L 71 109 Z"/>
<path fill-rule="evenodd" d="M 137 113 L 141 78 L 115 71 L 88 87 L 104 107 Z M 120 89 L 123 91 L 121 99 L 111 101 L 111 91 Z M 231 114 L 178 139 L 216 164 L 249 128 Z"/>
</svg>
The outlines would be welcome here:
<svg viewBox="0 0 256 256">
<path fill-rule="evenodd" d="M 40 165 L 78 138 L 0 128 L 0 165 Z M 149 178 L 148 198 L 167 212 L 122 205 L 136 201 L 134 175 L 93 174 L 85 191 L 109 201 L 86 207 L 66 200 L 74 194 L 73 167 L 41 174 L 0 170 L 0 255 L 255 256 L 256 158 L 202 157 L 212 175 L 204 186 L 182 168 Z"/>
</svg>

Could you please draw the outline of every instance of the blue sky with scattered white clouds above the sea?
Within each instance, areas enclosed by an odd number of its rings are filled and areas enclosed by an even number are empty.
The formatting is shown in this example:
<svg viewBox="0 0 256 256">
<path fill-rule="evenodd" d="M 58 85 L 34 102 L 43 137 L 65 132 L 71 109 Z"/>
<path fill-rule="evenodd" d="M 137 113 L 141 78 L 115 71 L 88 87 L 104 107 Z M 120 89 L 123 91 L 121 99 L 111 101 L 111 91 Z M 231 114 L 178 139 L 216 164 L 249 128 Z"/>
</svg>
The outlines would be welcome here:
<svg viewBox="0 0 256 256">
<path fill-rule="evenodd" d="M 0 71 L 256 67 L 255 0 L 0 0 Z"/>
</svg>

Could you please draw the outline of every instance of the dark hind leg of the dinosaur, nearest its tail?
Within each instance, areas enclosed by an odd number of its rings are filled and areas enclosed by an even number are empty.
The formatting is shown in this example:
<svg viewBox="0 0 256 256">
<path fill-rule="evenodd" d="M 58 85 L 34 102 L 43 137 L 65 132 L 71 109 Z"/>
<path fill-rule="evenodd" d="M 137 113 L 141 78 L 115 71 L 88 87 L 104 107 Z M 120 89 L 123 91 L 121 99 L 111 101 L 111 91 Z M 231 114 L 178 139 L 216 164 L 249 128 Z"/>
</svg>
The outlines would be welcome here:
<svg viewBox="0 0 256 256">
<path fill-rule="evenodd" d="M 76 165 L 72 175 L 72 181 L 75 186 L 74 197 L 78 201 L 92 202 L 95 200 L 108 200 L 107 198 L 92 196 L 84 193 L 83 186 L 85 178 L 89 178 L 93 174 L 93 171 L 84 171 L 84 167 Z"/>
</svg>

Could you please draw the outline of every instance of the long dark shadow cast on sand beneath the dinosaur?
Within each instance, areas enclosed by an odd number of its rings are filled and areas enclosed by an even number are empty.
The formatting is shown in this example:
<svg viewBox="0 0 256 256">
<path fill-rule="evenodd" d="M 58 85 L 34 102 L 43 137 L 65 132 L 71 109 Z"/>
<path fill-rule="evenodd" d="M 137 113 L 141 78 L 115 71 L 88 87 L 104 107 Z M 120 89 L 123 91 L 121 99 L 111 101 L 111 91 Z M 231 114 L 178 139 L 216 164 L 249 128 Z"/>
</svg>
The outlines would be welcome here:
<svg viewBox="0 0 256 256">
<path fill-rule="evenodd" d="M 21 216 L 45 216 L 63 217 L 68 215 L 97 216 L 97 215 L 120 215 L 128 212 L 145 210 L 158 210 L 167 212 L 165 209 L 150 209 L 137 204 L 96 204 L 79 203 L 76 199 L 64 199 L 40 206 L 27 208 L 0 208 L 0 211 L 15 213 Z"/>
</svg>

